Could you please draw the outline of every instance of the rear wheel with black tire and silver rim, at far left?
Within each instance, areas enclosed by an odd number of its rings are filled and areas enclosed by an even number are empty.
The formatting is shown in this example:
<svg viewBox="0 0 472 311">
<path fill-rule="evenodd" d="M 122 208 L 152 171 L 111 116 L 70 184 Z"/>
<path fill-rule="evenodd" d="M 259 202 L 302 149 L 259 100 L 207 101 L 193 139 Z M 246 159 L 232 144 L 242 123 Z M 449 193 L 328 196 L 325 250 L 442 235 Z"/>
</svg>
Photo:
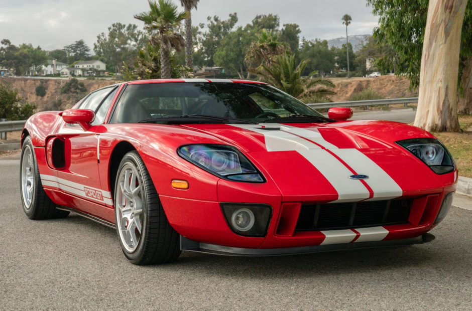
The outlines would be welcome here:
<svg viewBox="0 0 472 311">
<path fill-rule="evenodd" d="M 44 192 L 30 136 L 25 138 L 21 149 L 20 192 L 23 211 L 30 219 L 64 218 L 69 215 L 67 211 L 56 209 L 56 204 Z"/>
</svg>

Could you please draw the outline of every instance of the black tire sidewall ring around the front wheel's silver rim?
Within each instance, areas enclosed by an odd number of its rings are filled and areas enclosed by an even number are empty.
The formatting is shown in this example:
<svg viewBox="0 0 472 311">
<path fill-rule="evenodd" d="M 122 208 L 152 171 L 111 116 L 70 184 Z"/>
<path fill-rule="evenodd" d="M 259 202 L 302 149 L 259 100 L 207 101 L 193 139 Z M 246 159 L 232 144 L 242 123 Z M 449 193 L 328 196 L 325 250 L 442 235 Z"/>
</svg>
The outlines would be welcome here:
<svg viewBox="0 0 472 311">
<path fill-rule="evenodd" d="M 143 171 L 141 169 L 140 162 L 142 163 L 142 160 L 136 151 L 131 151 L 125 154 L 125 157 L 123 157 L 122 162 L 120 163 L 120 166 L 118 168 L 118 171 L 116 174 L 115 187 L 114 187 L 114 198 L 115 198 L 114 217 L 115 217 L 115 223 L 116 223 L 116 234 L 118 235 L 118 239 L 123 249 L 123 253 L 131 262 L 141 261 L 142 259 L 141 257 L 144 255 L 145 242 L 147 240 L 147 234 L 148 234 L 148 201 L 147 201 L 146 185 L 144 184 Z M 123 241 L 120 235 L 120 225 L 119 225 L 120 220 L 118 219 L 117 206 L 116 206 L 117 189 L 118 187 L 120 187 L 119 177 L 120 177 L 123 167 L 127 164 L 133 165 L 138 171 L 138 180 L 141 186 L 141 200 L 143 203 L 142 232 L 141 232 L 141 236 L 138 242 L 138 247 L 133 252 L 129 252 L 123 245 Z"/>
</svg>

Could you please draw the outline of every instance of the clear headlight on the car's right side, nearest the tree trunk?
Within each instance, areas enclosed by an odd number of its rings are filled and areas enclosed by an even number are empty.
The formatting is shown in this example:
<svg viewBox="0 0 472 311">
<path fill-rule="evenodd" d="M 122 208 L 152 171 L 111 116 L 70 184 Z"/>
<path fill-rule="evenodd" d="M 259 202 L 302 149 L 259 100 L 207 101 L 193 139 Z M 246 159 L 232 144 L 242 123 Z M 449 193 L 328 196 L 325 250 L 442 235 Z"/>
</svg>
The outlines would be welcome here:
<svg viewBox="0 0 472 311">
<path fill-rule="evenodd" d="M 454 160 L 447 148 L 435 138 L 414 138 L 396 141 L 423 161 L 436 174 L 454 172 Z"/>
</svg>

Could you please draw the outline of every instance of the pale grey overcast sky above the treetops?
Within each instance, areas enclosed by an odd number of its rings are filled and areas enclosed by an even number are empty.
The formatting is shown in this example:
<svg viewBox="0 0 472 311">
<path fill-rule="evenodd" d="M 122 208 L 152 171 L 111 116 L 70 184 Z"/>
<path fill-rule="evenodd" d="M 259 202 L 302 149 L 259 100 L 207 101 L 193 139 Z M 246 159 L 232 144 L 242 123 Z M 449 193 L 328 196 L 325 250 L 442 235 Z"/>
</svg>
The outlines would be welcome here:
<svg viewBox="0 0 472 311">
<path fill-rule="evenodd" d="M 179 5 L 179 0 L 172 0 Z M 43 50 L 62 49 L 83 39 L 93 50 L 101 32 L 111 24 L 137 24 L 133 15 L 149 11 L 147 0 L 0 0 L 0 40 L 13 44 L 31 43 Z M 341 17 L 352 17 L 349 35 L 371 34 L 378 19 L 366 0 L 200 0 L 192 11 L 192 23 L 206 23 L 207 16 L 222 20 L 238 13 L 239 25 L 250 23 L 258 14 L 277 14 L 280 26 L 296 23 L 307 40 L 345 36 Z"/>
</svg>

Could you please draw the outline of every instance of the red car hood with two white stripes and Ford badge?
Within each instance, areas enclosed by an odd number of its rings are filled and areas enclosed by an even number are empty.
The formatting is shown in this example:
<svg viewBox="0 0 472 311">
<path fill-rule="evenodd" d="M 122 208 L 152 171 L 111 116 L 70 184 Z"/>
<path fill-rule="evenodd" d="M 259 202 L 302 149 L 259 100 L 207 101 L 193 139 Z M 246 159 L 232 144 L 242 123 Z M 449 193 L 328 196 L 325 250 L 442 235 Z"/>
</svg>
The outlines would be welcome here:
<svg viewBox="0 0 472 311">
<path fill-rule="evenodd" d="M 443 183 L 395 141 L 434 137 L 403 123 L 345 121 L 292 124 L 199 124 L 246 153 L 284 200 L 384 200 L 421 195 Z M 364 176 L 356 176 L 364 175 Z M 360 179 L 361 178 L 361 179 Z M 451 177 L 451 182 L 453 178 Z"/>
</svg>

